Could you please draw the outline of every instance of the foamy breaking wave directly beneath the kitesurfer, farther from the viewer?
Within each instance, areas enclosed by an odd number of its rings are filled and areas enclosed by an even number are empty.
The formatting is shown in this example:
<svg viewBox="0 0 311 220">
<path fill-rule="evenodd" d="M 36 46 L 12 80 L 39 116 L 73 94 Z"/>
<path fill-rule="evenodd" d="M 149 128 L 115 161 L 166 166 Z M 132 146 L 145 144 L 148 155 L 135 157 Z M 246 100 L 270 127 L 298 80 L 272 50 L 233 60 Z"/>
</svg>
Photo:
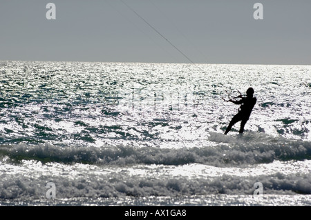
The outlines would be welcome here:
<svg viewBox="0 0 311 220">
<path fill-rule="evenodd" d="M 155 148 L 133 146 L 53 146 L 50 143 L 29 145 L 19 143 L 0 146 L 0 155 L 10 161 L 37 160 L 57 163 L 87 164 L 163 164 L 202 163 L 211 166 L 242 166 L 272 163 L 275 160 L 311 159 L 311 142 L 249 133 L 225 136 L 211 132 L 214 146 L 200 148 Z"/>
</svg>

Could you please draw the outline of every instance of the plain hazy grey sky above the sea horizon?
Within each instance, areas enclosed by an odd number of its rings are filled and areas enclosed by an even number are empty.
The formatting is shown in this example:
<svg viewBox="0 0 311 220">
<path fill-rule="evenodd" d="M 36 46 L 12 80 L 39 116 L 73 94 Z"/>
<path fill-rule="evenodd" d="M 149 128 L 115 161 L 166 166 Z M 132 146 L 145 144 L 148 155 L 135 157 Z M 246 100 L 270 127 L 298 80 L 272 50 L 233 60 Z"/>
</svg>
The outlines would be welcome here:
<svg viewBox="0 0 311 220">
<path fill-rule="evenodd" d="M 194 63 L 311 64 L 310 0 L 123 1 Z M 158 32 L 120 0 L 0 0 L 0 60 L 189 63 Z"/>
</svg>

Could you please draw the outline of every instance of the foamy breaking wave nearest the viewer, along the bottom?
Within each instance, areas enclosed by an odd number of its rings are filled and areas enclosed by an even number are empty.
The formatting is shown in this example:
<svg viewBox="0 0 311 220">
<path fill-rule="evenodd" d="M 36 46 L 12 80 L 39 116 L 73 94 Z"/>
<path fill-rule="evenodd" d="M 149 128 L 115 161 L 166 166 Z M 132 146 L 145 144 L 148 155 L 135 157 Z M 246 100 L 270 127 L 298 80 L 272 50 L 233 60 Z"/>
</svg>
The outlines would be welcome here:
<svg viewBox="0 0 311 220">
<path fill-rule="evenodd" d="M 57 188 L 57 198 L 113 198 L 113 197 L 185 197 L 208 194 L 252 195 L 254 183 L 261 182 L 265 194 L 311 194 L 310 174 L 264 174 L 241 177 L 222 174 L 218 177 L 165 177 L 131 175 L 117 170 L 97 172 L 79 171 L 74 174 L 40 174 L 39 178 L 9 175 L 0 179 L 0 199 L 44 199 L 46 183 L 51 179 Z M 39 172 L 40 173 L 40 172 Z"/>
</svg>

